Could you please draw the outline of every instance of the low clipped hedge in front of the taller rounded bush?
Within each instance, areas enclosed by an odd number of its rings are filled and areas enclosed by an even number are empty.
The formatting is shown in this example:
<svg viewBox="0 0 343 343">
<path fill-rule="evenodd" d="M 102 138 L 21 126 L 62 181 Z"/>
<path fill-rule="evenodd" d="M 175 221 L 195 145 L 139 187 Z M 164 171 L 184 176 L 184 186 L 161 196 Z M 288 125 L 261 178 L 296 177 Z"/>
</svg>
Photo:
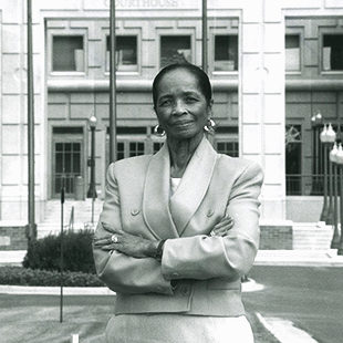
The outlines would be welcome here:
<svg viewBox="0 0 343 343">
<path fill-rule="evenodd" d="M 0 284 L 15 285 L 60 285 L 61 274 L 58 271 L 25 269 L 22 267 L 0 267 Z M 65 287 L 104 287 L 95 274 L 83 272 L 63 272 Z"/>
</svg>

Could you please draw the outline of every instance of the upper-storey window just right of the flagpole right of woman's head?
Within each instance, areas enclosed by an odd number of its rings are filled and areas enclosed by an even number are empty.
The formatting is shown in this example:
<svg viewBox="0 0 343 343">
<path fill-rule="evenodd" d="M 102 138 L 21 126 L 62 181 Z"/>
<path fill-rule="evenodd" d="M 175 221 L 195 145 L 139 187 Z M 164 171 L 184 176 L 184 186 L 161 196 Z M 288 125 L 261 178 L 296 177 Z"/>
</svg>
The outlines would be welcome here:
<svg viewBox="0 0 343 343">
<path fill-rule="evenodd" d="M 238 35 L 215 37 L 215 71 L 238 70 Z"/>
</svg>

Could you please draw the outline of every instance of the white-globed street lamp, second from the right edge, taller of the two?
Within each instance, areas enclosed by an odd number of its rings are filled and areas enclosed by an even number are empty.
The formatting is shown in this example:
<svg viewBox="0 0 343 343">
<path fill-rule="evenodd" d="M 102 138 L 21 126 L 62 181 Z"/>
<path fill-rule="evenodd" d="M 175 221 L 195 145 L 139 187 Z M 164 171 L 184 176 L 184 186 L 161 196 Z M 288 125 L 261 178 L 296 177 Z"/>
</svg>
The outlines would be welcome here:
<svg viewBox="0 0 343 343">
<path fill-rule="evenodd" d="M 326 224 L 332 224 L 332 166 L 329 164 L 328 169 L 328 154 L 330 146 L 335 142 L 336 134 L 332 128 L 331 123 L 329 125 L 324 124 L 324 128 L 320 135 L 321 142 L 324 147 L 324 204 L 321 214 L 321 221 L 325 221 Z M 329 173 L 329 204 L 328 204 L 328 173 Z"/>
</svg>

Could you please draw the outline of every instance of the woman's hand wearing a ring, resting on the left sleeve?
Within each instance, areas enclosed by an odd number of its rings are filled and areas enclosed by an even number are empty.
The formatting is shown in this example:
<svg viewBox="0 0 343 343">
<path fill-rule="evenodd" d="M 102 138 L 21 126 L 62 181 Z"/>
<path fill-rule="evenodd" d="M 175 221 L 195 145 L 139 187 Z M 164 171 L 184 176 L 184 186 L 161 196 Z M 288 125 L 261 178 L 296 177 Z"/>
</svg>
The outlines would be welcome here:
<svg viewBox="0 0 343 343">
<path fill-rule="evenodd" d="M 152 241 L 139 236 L 114 229 L 102 222 L 108 235 L 94 239 L 94 246 L 105 251 L 116 250 L 134 258 L 153 257 L 158 241 Z"/>
</svg>

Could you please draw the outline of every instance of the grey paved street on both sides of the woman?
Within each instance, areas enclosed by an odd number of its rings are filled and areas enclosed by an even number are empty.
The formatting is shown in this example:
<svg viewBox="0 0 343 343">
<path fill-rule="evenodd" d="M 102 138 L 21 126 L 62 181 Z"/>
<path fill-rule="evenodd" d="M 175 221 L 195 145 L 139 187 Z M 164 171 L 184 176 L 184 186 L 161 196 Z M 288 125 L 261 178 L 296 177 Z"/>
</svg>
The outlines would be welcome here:
<svg viewBox="0 0 343 343">
<path fill-rule="evenodd" d="M 264 289 L 245 292 L 249 313 L 258 312 L 273 324 L 274 319 L 277 323 L 278 320 L 293 322 L 319 343 L 342 343 L 343 268 L 256 266 L 250 277 Z M 0 342 L 14 343 L 21 342 L 21 337 L 31 337 L 25 342 L 43 343 L 49 340 L 66 343 L 72 333 L 80 333 L 82 342 L 103 342 L 113 299 L 67 295 L 64 300 L 65 321 L 60 324 L 59 297 L 0 294 L 0 322 L 8 324 L 0 326 Z M 40 339 L 35 335 L 38 332 L 42 335 Z M 309 342 L 301 337 L 297 341 L 289 339 L 289 330 L 284 325 L 283 333 L 285 340 L 282 342 Z M 6 341 L 1 341 L 3 337 Z M 263 340 L 258 342 L 264 343 Z"/>
</svg>

